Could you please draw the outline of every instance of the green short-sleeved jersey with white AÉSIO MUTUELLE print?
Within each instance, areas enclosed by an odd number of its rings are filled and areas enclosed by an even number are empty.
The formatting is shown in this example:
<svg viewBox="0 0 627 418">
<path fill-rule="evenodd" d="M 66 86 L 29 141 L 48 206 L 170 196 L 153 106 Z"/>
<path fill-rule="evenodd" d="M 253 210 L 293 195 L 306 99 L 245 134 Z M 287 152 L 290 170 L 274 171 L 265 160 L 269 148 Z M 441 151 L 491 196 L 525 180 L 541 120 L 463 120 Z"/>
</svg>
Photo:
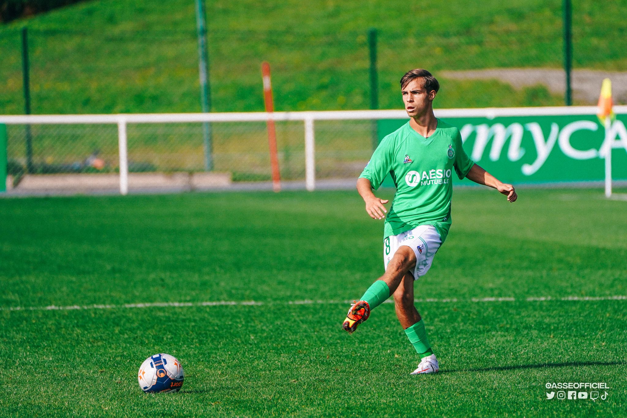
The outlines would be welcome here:
<svg viewBox="0 0 627 418">
<path fill-rule="evenodd" d="M 455 170 L 463 179 L 473 164 L 461 147 L 458 128 L 440 119 L 428 138 L 409 122 L 383 138 L 359 177 L 370 180 L 375 190 L 388 173 L 394 181 L 396 196 L 384 238 L 427 224 L 436 227 L 444 242 L 451 227 L 451 174 Z"/>
</svg>

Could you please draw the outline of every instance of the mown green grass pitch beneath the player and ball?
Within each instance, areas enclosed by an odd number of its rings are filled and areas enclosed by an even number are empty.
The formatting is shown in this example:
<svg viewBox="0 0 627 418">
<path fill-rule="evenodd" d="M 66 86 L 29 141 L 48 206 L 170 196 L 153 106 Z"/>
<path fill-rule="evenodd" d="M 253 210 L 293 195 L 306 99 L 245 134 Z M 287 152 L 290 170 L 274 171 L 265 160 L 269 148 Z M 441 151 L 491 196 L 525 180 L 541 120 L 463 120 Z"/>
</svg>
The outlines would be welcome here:
<svg viewBox="0 0 627 418">
<path fill-rule="evenodd" d="M 624 415 L 627 300 L 608 298 L 627 295 L 626 202 L 519 195 L 455 191 L 416 283 L 429 376 L 409 375 L 393 304 L 340 328 L 382 273 L 356 192 L 0 199 L 0 415 Z M 236 304 L 199 305 L 219 301 Z M 124 306 L 158 302 L 190 306 Z M 181 392 L 139 389 L 157 352 L 181 360 Z M 547 382 L 609 396 L 547 400 Z"/>
</svg>

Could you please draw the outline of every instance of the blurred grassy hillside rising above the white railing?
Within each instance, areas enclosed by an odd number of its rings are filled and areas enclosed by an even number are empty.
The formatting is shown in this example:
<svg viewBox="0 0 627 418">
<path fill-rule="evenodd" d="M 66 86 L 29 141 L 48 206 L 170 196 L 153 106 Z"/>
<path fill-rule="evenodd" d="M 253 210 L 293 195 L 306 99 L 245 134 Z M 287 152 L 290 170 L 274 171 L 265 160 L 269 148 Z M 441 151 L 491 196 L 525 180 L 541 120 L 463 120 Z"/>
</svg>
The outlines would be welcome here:
<svg viewBox="0 0 627 418">
<path fill-rule="evenodd" d="M 613 39 L 627 2 L 574 2 L 576 67 L 627 70 Z M 277 110 L 369 107 L 367 29 L 379 29 L 379 103 L 398 108 L 409 68 L 552 67 L 561 1 L 503 5 L 289 0 L 207 2 L 214 111 L 263 110 L 261 61 Z M 608 12 L 609 11 L 609 12 Z M 193 0 L 99 0 L 0 26 L 0 112 L 23 113 L 19 30 L 28 26 L 33 113 L 198 112 Z M 544 87 L 441 80 L 438 107 L 559 105 Z"/>
</svg>

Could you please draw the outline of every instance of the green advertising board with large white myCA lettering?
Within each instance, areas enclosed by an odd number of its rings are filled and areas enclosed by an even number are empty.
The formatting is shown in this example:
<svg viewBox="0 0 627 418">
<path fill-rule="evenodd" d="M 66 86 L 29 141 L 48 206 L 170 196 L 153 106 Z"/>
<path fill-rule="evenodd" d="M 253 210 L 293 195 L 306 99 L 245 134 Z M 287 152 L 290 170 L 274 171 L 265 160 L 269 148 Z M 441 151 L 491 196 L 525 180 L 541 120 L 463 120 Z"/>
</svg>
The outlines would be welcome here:
<svg viewBox="0 0 627 418">
<path fill-rule="evenodd" d="M 594 115 L 442 118 L 460 129 L 463 147 L 473 161 L 503 182 L 551 184 L 600 182 L 605 178 L 601 145 L 605 129 Z M 407 123 L 379 120 L 379 142 Z M 627 180 L 627 115 L 612 125 L 612 177 Z M 614 145 L 616 146 L 616 145 Z M 462 180 L 458 184 L 472 184 Z M 385 186 L 393 187 L 389 177 Z"/>
</svg>

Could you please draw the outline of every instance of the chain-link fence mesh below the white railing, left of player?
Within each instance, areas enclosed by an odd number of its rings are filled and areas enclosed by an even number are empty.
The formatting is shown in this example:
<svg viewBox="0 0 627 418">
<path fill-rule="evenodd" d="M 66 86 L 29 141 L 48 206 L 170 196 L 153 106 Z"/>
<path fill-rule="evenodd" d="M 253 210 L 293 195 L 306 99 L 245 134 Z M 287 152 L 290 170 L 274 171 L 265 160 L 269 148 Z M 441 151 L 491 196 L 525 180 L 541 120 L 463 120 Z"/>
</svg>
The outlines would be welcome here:
<svg viewBox="0 0 627 418">
<path fill-rule="evenodd" d="M 282 180 L 305 179 L 303 122 L 275 123 Z M 233 182 L 271 179 L 265 122 L 213 122 L 214 171 Z M 372 154 L 369 120 L 319 120 L 315 132 L 317 179 L 354 179 Z M 7 125 L 8 174 L 117 174 L 117 125 Z M 204 171 L 202 123 L 128 123 L 130 173 Z"/>
</svg>

